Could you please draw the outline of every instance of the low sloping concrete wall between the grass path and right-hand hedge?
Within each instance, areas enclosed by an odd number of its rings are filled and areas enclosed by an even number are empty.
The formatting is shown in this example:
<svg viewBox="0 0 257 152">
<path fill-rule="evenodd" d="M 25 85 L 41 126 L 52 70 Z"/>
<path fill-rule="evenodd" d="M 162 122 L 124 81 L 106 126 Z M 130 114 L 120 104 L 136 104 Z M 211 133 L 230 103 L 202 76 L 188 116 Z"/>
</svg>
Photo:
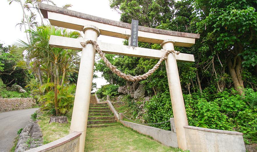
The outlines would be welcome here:
<svg viewBox="0 0 257 152">
<path fill-rule="evenodd" d="M 141 125 L 138 123 L 131 123 L 128 121 L 123 121 L 123 120 L 120 120 L 120 122 L 124 126 L 132 128 L 133 130 L 135 130 L 141 134 L 153 137 L 153 139 L 155 141 L 159 141 L 163 145 L 175 147 L 175 148 L 178 147 L 177 135 L 176 135 L 176 133 L 174 133 L 172 131 L 163 130 L 163 129 L 150 127 L 150 126 L 146 126 L 146 125 Z"/>
</svg>

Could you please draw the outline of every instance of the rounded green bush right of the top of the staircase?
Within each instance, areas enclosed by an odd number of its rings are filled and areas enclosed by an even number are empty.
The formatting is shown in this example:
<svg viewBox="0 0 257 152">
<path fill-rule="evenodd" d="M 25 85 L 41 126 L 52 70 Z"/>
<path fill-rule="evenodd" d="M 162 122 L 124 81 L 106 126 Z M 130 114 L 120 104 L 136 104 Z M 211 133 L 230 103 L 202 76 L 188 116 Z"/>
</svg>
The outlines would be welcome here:
<svg viewBox="0 0 257 152">
<path fill-rule="evenodd" d="M 110 95 L 110 97 L 114 97 L 115 95 L 118 95 L 118 85 L 108 84 L 103 85 L 100 89 L 96 91 L 96 94 L 99 95 L 100 98 Z"/>
</svg>

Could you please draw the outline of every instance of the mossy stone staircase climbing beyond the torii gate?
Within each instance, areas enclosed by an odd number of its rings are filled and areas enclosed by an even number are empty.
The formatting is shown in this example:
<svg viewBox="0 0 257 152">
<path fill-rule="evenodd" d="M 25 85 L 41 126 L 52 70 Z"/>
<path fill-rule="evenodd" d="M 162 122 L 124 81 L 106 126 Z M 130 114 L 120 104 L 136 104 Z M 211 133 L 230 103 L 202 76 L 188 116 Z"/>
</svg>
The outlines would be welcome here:
<svg viewBox="0 0 257 152">
<path fill-rule="evenodd" d="M 96 97 L 91 96 L 87 127 L 107 127 L 116 122 L 112 111 L 107 103 L 97 103 Z"/>
</svg>

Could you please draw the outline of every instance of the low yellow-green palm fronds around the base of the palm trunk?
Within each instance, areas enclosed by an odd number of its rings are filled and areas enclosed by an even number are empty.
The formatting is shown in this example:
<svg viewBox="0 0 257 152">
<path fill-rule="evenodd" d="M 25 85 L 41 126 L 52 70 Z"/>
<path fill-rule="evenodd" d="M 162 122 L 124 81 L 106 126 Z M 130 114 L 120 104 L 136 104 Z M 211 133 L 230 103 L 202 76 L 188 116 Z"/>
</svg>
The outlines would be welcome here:
<svg viewBox="0 0 257 152">
<path fill-rule="evenodd" d="M 39 98 L 39 102 L 42 103 L 42 109 L 48 113 L 56 115 L 55 104 L 54 104 L 54 83 L 46 83 L 40 87 L 41 90 L 49 89 L 49 91 Z M 73 108 L 74 96 L 75 96 L 76 85 L 70 84 L 64 87 L 57 85 L 58 110 L 62 115 L 66 114 L 70 109 Z"/>
</svg>

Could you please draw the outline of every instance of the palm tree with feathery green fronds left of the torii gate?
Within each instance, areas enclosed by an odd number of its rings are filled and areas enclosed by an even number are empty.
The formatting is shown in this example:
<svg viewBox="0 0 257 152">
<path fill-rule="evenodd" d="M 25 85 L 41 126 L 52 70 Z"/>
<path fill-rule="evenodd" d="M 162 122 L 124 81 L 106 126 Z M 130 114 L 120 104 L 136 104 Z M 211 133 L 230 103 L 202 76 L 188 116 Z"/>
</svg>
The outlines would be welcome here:
<svg viewBox="0 0 257 152">
<path fill-rule="evenodd" d="M 68 59 L 68 55 L 71 55 L 71 51 L 67 51 L 63 48 L 52 48 L 49 46 L 49 39 L 51 35 L 56 36 L 66 36 L 71 38 L 78 38 L 80 37 L 80 32 L 73 31 L 68 32 L 66 29 L 56 29 L 53 26 L 41 26 L 37 27 L 36 30 L 27 30 L 27 32 L 30 33 L 30 43 L 26 43 L 22 40 L 19 40 L 17 43 L 15 43 L 15 48 L 11 49 L 12 53 L 15 53 L 17 55 L 22 55 L 22 53 L 26 53 L 25 57 L 29 61 L 40 61 L 38 63 L 38 68 L 40 69 L 40 64 L 47 64 L 50 65 L 50 63 L 53 64 L 54 69 L 52 69 L 52 73 L 54 74 L 54 104 L 55 104 L 55 111 L 56 115 L 59 115 L 58 111 L 58 101 L 57 101 L 57 79 L 59 79 L 59 69 L 64 68 L 64 77 L 65 78 L 65 72 L 66 68 L 68 67 L 67 64 L 71 64 L 68 62 L 64 62 L 63 60 L 70 60 Z M 75 50 L 73 50 L 74 53 L 77 53 Z M 66 66 L 64 66 L 66 64 Z M 62 65 L 62 67 L 61 67 Z M 42 79 L 42 78 L 40 78 Z M 41 80 L 40 80 L 41 81 Z"/>
</svg>

